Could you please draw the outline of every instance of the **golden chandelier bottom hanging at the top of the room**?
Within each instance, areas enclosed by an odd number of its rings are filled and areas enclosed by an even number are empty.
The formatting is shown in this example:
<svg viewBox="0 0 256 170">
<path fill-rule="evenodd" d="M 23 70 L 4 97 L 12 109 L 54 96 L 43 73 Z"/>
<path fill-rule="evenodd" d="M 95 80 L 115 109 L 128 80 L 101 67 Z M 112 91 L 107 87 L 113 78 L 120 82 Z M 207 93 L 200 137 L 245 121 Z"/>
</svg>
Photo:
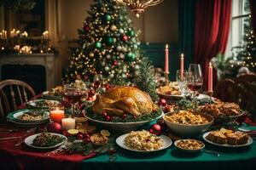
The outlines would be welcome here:
<svg viewBox="0 0 256 170">
<path fill-rule="evenodd" d="M 139 18 L 140 14 L 145 11 L 145 8 L 162 3 L 164 0 L 115 0 L 117 3 L 126 5 Z"/>
</svg>

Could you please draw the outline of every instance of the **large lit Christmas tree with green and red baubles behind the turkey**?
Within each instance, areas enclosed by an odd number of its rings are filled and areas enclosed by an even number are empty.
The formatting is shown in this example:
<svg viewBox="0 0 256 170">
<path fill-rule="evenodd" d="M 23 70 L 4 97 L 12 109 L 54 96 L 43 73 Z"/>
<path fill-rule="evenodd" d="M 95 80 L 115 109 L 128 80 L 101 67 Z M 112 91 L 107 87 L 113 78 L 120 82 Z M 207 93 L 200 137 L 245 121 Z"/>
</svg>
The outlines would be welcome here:
<svg viewBox="0 0 256 170">
<path fill-rule="evenodd" d="M 113 0 L 95 0 L 79 29 L 79 48 L 72 48 L 67 82 L 77 77 L 93 81 L 96 74 L 118 84 L 132 83 L 142 62 L 138 32 L 126 8 Z"/>
</svg>

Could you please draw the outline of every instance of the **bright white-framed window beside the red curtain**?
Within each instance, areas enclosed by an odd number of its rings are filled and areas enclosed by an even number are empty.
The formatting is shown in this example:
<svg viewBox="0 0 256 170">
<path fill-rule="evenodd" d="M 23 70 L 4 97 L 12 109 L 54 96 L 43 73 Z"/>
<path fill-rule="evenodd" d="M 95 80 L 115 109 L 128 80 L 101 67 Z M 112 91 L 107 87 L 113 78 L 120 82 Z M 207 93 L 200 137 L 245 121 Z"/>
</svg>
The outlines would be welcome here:
<svg viewBox="0 0 256 170">
<path fill-rule="evenodd" d="M 243 43 L 243 37 L 250 29 L 249 0 L 233 0 L 232 20 L 230 23 L 230 36 L 226 56 L 232 55 L 232 49 Z"/>
</svg>

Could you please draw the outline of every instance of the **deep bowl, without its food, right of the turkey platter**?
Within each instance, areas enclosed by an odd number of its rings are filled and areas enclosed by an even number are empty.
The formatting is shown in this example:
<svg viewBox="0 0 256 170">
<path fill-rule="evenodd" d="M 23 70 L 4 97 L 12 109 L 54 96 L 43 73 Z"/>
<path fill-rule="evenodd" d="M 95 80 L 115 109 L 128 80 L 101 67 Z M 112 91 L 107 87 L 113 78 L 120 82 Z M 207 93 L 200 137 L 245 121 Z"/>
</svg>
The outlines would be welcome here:
<svg viewBox="0 0 256 170">
<path fill-rule="evenodd" d="M 187 124 L 181 124 L 176 122 L 170 122 L 166 120 L 166 116 L 170 116 L 176 112 L 169 112 L 165 116 L 163 116 L 164 121 L 166 122 L 167 127 L 173 132 L 176 133 L 178 136 L 183 137 L 191 137 L 191 136 L 197 136 L 201 133 L 204 133 L 207 131 L 207 128 L 209 128 L 212 125 L 212 122 L 214 121 L 213 117 L 210 115 L 207 115 L 205 113 L 195 112 L 194 114 L 201 115 L 207 119 L 207 123 L 199 124 L 199 125 L 187 125 Z"/>
</svg>

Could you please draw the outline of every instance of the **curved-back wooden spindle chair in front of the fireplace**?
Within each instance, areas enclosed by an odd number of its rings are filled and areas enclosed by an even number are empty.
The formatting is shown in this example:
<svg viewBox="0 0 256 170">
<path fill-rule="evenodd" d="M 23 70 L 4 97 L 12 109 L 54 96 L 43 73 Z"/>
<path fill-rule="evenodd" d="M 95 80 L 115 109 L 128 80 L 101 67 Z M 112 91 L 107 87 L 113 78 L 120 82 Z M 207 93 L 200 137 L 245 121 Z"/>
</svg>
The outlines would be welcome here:
<svg viewBox="0 0 256 170">
<path fill-rule="evenodd" d="M 0 120 L 10 111 L 16 111 L 18 105 L 35 96 L 35 92 L 26 82 L 4 80 L 0 82 Z"/>
</svg>

